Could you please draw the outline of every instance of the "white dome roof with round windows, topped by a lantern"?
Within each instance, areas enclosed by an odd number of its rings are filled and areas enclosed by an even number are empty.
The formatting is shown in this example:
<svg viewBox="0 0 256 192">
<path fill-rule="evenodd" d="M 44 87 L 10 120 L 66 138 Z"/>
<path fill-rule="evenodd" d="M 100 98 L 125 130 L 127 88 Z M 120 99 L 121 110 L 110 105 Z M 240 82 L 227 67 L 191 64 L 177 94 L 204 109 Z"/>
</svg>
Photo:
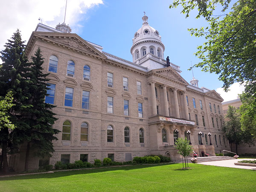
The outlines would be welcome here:
<svg viewBox="0 0 256 192">
<path fill-rule="evenodd" d="M 136 47 L 138 44 L 144 43 L 144 42 L 154 42 L 157 44 L 160 44 L 160 46 L 163 48 L 163 51 L 165 50 L 165 47 L 161 41 L 161 36 L 159 35 L 159 32 L 154 29 L 153 27 L 148 25 L 148 17 L 143 16 L 143 25 L 142 27 L 135 32 L 134 38 L 132 39 L 133 45 L 131 47 L 131 53 L 133 52 L 134 47 Z"/>
</svg>

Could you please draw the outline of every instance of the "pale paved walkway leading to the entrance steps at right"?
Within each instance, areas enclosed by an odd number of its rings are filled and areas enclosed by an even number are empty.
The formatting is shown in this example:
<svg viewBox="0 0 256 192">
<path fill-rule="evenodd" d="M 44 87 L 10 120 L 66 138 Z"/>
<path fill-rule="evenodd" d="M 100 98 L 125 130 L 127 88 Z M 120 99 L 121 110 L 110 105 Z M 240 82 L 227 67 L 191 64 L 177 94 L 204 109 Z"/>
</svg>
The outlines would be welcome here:
<svg viewBox="0 0 256 192">
<path fill-rule="evenodd" d="M 202 165 L 212 165 L 212 166 L 219 166 L 219 167 L 233 167 L 239 169 L 252 169 L 256 170 L 256 167 L 253 166 L 237 166 L 234 163 L 237 163 L 241 160 L 256 160 L 256 159 L 231 159 L 231 160 L 221 160 L 221 161 L 208 161 L 208 162 L 201 162 L 198 164 Z"/>
</svg>

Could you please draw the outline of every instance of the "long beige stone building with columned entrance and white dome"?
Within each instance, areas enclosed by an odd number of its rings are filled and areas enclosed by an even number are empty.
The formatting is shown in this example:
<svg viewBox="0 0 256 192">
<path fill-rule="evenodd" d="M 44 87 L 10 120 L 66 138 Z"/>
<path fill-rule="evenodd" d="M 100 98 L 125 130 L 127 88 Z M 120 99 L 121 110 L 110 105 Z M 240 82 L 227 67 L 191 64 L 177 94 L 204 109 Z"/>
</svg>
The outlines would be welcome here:
<svg viewBox="0 0 256 192">
<path fill-rule="evenodd" d="M 178 137 L 190 138 L 200 156 L 229 148 L 221 131 L 221 96 L 199 88 L 197 79 L 193 85 L 186 82 L 179 66 L 170 62 L 167 67 L 160 33 L 149 26 L 147 16 L 142 18 L 133 38 L 132 62 L 67 33 L 71 28 L 65 23 L 56 29 L 39 23 L 32 32 L 26 53 L 30 58 L 41 48 L 44 72 L 50 73 L 46 102 L 57 106 L 53 127 L 61 131 L 50 164 L 105 157 L 128 161 L 149 154 L 180 160 L 174 147 Z M 30 169 L 38 163 L 33 158 Z"/>
</svg>

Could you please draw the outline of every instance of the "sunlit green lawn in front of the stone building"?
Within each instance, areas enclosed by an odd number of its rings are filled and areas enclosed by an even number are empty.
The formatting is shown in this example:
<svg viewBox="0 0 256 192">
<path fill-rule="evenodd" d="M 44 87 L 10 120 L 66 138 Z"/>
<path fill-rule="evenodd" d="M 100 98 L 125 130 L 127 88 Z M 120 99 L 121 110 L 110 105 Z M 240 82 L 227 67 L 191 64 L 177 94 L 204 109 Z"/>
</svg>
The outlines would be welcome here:
<svg viewBox="0 0 256 192">
<path fill-rule="evenodd" d="M 125 166 L 0 178 L 1 192 L 256 190 L 256 171 L 189 164 Z"/>
</svg>

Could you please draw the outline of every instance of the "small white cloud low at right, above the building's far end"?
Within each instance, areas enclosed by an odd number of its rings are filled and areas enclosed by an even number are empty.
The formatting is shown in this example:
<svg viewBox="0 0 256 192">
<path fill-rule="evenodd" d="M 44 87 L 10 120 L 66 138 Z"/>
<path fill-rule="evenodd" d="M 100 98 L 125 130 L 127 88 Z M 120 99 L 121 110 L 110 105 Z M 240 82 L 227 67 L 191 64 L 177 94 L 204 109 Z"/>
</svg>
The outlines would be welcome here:
<svg viewBox="0 0 256 192">
<path fill-rule="evenodd" d="M 221 97 L 224 99 L 223 102 L 231 101 L 237 99 L 238 94 L 241 94 L 244 91 L 244 85 L 239 83 L 234 83 L 230 86 L 229 91 L 225 92 L 223 88 L 217 88 L 217 93 L 221 94 Z"/>
</svg>

